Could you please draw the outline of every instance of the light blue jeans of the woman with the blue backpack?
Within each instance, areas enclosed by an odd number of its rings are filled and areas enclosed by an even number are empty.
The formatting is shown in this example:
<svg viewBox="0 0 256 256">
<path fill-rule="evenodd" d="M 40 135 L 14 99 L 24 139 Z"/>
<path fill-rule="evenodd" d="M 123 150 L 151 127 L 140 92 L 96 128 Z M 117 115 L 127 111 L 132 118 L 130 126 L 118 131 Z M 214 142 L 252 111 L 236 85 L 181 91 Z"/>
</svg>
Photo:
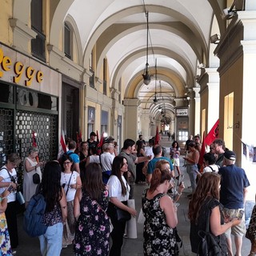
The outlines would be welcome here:
<svg viewBox="0 0 256 256">
<path fill-rule="evenodd" d="M 39 236 L 42 256 L 58 256 L 62 251 L 63 224 L 59 222 L 54 226 L 48 226 L 46 234 Z"/>
</svg>

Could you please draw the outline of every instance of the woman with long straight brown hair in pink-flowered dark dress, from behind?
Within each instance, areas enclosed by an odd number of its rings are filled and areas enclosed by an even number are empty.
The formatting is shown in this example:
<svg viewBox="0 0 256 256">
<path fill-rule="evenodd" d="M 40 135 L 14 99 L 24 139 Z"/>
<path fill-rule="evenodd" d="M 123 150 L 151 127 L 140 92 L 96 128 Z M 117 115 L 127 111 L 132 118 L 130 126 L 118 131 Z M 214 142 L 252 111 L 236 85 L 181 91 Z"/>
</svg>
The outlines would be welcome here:
<svg viewBox="0 0 256 256">
<path fill-rule="evenodd" d="M 108 190 L 102 182 L 98 163 L 86 167 L 86 180 L 74 197 L 74 216 L 78 219 L 74 236 L 76 256 L 109 254 L 110 220 L 106 215 Z"/>
</svg>

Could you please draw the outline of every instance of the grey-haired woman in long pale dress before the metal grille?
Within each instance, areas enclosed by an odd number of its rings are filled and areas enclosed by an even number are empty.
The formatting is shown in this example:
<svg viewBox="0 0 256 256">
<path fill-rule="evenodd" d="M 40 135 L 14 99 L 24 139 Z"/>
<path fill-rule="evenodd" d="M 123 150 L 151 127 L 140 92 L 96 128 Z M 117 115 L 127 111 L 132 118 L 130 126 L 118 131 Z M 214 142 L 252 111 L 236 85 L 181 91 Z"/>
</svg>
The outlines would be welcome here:
<svg viewBox="0 0 256 256">
<path fill-rule="evenodd" d="M 41 166 L 43 162 L 38 162 L 38 148 L 31 146 L 28 150 L 28 156 L 24 160 L 24 180 L 23 180 L 23 196 L 25 198 L 25 206 L 30 202 L 30 198 L 35 194 L 38 183 L 34 183 L 33 175 L 39 175 L 39 182 L 42 179 Z"/>
</svg>

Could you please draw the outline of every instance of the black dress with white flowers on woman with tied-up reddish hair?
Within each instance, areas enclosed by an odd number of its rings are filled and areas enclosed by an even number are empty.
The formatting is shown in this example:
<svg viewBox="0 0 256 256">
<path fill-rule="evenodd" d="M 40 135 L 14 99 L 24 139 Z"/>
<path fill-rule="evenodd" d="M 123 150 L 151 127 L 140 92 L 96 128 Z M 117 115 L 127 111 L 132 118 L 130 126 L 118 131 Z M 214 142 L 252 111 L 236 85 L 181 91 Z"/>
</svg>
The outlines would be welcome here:
<svg viewBox="0 0 256 256">
<path fill-rule="evenodd" d="M 166 215 L 160 207 L 160 199 L 166 194 L 157 194 L 153 199 L 146 198 L 147 189 L 142 194 L 142 211 L 146 218 L 143 230 L 144 255 L 178 255 L 174 229 L 166 223 Z"/>
</svg>

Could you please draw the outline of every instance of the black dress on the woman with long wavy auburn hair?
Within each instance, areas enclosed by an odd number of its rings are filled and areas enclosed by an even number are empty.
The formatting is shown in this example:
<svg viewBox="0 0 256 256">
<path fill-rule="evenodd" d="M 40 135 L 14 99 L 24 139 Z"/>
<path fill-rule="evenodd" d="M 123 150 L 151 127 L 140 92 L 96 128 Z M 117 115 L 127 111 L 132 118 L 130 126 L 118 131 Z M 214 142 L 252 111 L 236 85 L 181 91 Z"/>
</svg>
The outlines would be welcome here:
<svg viewBox="0 0 256 256">
<path fill-rule="evenodd" d="M 223 206 L 222 204 L 214 198 L 207 197 L 205 202 L 203 202 L 201 210 L 198 215 L 198 223 L 190 222 L 190 244 L 192 252 L 195 254 L 198 253 L 198 245 L 201 242 L 201 238 L 198 236 L 199 230 L 206 230 L 206 219 L 209 214 L 216 206 L 220 207 L 220 212 L 222 213 Z M 221 224 L 224 224 L 224 218 L 221 214 Z M 221 234 L 214 237 L 215 240 L 222 246 L 222 255 L 226 255 L 227 253 L 227 246 L 226 246 L 226 238 L 225 234 Z M 200 256 L 204 256 L 199 254 Z"/>
</svg>

